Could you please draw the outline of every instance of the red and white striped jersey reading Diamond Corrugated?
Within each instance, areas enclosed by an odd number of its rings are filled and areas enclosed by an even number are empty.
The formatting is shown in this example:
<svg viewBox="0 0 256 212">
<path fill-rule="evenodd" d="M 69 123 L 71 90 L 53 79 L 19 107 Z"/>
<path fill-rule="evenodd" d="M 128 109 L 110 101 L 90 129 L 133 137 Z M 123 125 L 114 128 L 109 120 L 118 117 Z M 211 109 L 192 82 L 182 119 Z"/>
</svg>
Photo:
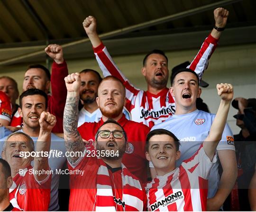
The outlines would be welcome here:
<svg viewBox="0 0 256 212">
<path fill-rule="evenodd" d="M 148 211 L 206 211 L 210 161 L 201 145 L 188 160 L 146 185 Z"/>
</svg>

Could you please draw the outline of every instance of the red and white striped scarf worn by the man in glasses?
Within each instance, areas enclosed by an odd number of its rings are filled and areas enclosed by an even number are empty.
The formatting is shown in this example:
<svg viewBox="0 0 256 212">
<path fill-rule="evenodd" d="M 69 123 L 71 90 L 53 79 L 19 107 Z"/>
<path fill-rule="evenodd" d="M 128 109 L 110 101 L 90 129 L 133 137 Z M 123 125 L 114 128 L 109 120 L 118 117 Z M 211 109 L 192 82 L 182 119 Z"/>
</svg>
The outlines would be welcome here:
<svg viewBox="0 0 256 212">
<path fill-rule="evenodd" d="M 93 211 L 116 211 L 113 198 L 110 175 L 106 163 L 98 158 L 99 170 L 97 173 L 97 194 Z M 122 164 L 122 202 L 124 211 L 143 211 L 143 189 L 138 179 L 132 177 L 129 170 Z"/>
</svg>

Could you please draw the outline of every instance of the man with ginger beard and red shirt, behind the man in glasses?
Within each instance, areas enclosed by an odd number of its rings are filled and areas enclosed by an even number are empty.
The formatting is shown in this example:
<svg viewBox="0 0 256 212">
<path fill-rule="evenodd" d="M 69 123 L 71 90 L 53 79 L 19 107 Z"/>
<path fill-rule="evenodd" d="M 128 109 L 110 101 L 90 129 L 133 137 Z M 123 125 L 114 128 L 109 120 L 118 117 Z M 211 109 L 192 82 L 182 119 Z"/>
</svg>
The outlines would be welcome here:
<svg viewBox="0 0 256 212">
<path fill-rule="evenodd" d="M 80 74 L 73 73 L 67 76 L 65 80 L 69 78 L 74 82 L 77 81 L 78 86 L 75 87 L 74 93 L 79 98 L 79 87 L 81 86 Z M 95 135 L 99 127 L 108 119 L 114 119 L 124 128 L 128 137 L 128 147 L 122 162 L 132 174 L 143 182 L 146 182 L 147 161 L 145 144 L 149 128 L 146 125 L 126 119 L 123 114 L 122 110 L 126 104 L 124 85 L 114 76 L 105 77 L 99 85 L 96 102 L 102 113 L 101 120 L 93 123 L 85 122 L 78 128 L 81 137 L 89 141 L 89 144 L 86 145 L 87 149 L 94 149 L 92 143 L 95 141 Z"/>
</svg>

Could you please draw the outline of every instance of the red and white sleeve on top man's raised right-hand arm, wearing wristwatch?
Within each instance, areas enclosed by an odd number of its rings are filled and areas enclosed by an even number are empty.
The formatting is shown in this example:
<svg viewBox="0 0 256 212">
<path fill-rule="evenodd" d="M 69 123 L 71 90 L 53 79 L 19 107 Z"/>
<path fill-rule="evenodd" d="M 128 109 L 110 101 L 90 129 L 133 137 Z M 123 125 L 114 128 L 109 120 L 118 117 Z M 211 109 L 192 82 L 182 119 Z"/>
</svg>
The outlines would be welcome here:
<svg viewBox="0 0 256 212">
<path fill-rule="evenodd" d="M 203 44 L 201 45 L 200 50 L 198 51 L 197 55 L 191 62 L 191 64 L 187 67 L 192 69 L 196 72 L 201 80 L 203 72 L 208 68 L 208 63 L 210 56 L 214 52 L 217 47 L 219 39 L 212 37 L 210 34 L 204 40 Z"/>
</svg>

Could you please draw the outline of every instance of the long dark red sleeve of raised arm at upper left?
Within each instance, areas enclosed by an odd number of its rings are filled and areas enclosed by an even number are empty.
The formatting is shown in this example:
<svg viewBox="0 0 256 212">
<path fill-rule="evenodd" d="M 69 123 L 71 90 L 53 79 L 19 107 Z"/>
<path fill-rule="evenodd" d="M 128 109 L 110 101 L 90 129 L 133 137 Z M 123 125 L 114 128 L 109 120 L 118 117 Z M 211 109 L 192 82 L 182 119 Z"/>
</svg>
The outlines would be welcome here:
<svg viewBox="0 0 256 212">
<path fill-rule="evenodd" d="M 51 87 L 52 95 L 48 98 L 49 112 L 56 116 L 57 122 L 53 128 L 54 133 L 63 133 L 63 114 L 66 103 L 67 89 L 64 78 L 68 75 L 67 64 L 53 62 Z"/>
</svg>

